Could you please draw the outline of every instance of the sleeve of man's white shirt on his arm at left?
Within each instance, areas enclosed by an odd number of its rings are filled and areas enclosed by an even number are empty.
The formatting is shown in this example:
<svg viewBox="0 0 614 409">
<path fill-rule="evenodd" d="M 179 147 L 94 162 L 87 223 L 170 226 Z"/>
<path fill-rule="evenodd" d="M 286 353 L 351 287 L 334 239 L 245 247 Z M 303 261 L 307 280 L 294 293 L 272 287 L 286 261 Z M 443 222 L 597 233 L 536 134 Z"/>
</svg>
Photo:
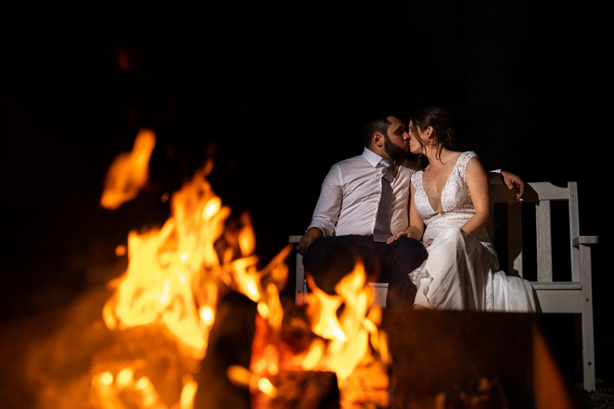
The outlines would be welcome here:
<svg viewBox="0 0 614 409">
<path fill-rule="evenodd" d="M 339 220 L 341 203 L 343 202 L 343 186 L 341 184 L 341 170 L 333 166 L 322 182 L 320 197 L 317 199 L 311 223 L 307 227 L 317 227 L 325 236 L 335 233 L 335 226 Z"/>
</svg>

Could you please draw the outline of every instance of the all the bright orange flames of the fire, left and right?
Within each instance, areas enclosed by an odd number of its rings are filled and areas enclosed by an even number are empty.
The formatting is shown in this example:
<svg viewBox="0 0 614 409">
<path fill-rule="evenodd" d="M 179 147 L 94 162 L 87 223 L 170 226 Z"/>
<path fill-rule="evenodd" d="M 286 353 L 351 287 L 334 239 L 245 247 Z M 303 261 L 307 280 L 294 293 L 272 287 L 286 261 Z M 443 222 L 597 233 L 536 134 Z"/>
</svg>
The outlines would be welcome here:
<svg viewBox="0 0 614 409">
<path fill-rule="evenodd" d="M 117 208 L 138 193 L 147 179 L 154 143 L 153 132 L 139 132 L 133 152 L 118 156 L 109 169 L 101 204 Z M 211 169 L 208 162 L 170 196 L 171 215 L 161 227 L 132 230 L 127 246 L 116 248 L 116 254 L 127 254 L 128 267 L 109 282 L 114 292 L 103 307 L 104 323 L 112 331 L 144 328 L 172 340 L 180 355 L 175 372 L 181 376 L 181 393 L 172 407 L 191 409 L 199 387 L 193 374 L 200 371 L 199 362 L 206 355 L 218 299 L 225 291 L 237 291 L 256 303 L 257 335 L 250 367 L 228 368 L 231 381 L 275 399 L 280 393 L 276 381 L 288 369 L 334 372 L 342 400 L 348 401 L 349 393 L 343 391 L 352 376 L 374 362 L 381 372 L 389 362 L 386 334 L 378 330 L 381 309 L 371 306 L 373 293 L 365 283 L 362 264 L 338 283 L 334 296 L 318 289 L 308 277 L 313 294 L 305 326 L 311 325 L 312 340 L 304 351 L 293 353 L 281 340 L 284 308 L 279 294 L 286 284 L 285 260 L 291 247 L 259 270 L 249 215 L 227 223 L 230 208 L 206 180 Z M 91 380 L 96 407 L 129 403 L 130 407 L 168 408 L 153 378 L 147 377 L 142 359 L 116 363 L 112 369 L 99 367 Z"/>
</svg>

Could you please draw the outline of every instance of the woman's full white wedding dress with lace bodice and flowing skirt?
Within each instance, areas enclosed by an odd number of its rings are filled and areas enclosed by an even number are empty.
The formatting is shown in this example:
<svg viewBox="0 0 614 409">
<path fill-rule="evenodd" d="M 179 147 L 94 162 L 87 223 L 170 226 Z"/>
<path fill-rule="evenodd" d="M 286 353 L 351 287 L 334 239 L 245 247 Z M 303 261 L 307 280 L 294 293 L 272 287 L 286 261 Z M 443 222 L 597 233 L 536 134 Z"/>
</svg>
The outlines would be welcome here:
<svg viewBox="0 0 614 409">
<path fill-rule="evenodd" d="M 422 240 L 433 239 L 429 256 L 410 273 L 418 288 L 414 304 L 440 310 L 534 312 L 529 281 L 508 277 L 499 270 L 499 259 L 484 227 L 474 235 L 461 229 L 475 214 L 465 168 L 472 151 L 461 153 L 441 191 L 441 208 L 435 212 L 422 186 L 422 171 L 411 177 L 413 200 L 426 229 Z"/>
</svg>

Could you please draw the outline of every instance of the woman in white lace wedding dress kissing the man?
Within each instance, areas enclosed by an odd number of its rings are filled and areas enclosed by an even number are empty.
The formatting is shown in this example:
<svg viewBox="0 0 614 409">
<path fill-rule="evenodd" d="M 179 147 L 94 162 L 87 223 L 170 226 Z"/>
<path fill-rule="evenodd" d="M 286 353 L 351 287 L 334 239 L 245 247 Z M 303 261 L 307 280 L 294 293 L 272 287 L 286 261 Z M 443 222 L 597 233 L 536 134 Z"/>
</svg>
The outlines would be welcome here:
<svg viewBox="0 0 614 409">
<path fill-rule="evenodd" d="M 449 113 L 438 107 L 419 110 L 408 133 L 419 166 L 425 159 L 428 164 L 411 177 L 410 226 L 388 241 L 422 239 L 429 253 L 410 273 L 418 288 L 414 308 L 534 312 L 530 283 L 499 270 L 486 232 L 488 177 L 474 152 L 453 150 Z"/>
</svg>

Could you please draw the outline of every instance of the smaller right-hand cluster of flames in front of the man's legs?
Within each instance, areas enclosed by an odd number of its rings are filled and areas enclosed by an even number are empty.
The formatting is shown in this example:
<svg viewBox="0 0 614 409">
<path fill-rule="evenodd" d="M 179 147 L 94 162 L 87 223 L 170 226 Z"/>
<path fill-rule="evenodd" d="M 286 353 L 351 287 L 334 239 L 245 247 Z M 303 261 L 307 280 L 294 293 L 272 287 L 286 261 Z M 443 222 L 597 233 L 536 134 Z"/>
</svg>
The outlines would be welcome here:
<svg viewBox="0 0 614 409">
<path fill-rule="evenodd" d="M 254 408 L 274 407 L 280 400 L 286 404 L 297 402 L 300 387 L 290 386 L 287 381 L 292 377 L 307 379 L 297 372 L 321 374 L 316 375 L 321 381 L 319 388 L 326 388 L 322 387 L 327 384 L 325 374 L 334 373 L 341 408 L 363 407 L 364 403 L 387 407 L 391 357 L 386 333 L 379 331 L 382 311 L 371 305 L 373 291 L 365 282 L 362 264 L 357 263 L 336 285 L 334 295 L 317 288 L 309 275 L 307 280 L 312 289 L 305 311 L 306 326 L 311 331 L 308 346 L 293 354 L 270 327 L 257 321 L 260 325 L 252 347 L 251 372 L 243 374 L 240 381 L 258 395 Z M 302 326 L 301 321 L 293 321 L 290 325 Z"/>
</svg>

